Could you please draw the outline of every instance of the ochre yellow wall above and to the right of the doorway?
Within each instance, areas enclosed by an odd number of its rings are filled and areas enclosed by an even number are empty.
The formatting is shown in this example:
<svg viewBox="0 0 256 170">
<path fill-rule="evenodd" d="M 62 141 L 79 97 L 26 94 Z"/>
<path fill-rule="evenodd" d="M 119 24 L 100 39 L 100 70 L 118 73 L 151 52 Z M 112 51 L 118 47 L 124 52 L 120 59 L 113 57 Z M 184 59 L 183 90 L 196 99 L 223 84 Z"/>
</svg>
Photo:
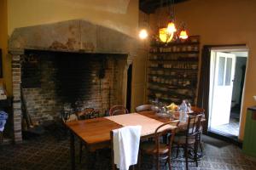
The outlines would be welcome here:
<svg viewBox="0 0 256 170">
<path fill-rule="evenodd" d="M 243 139 L 247 107 L 255 105 L 255 8 L 256 1 L 250 0 L 189 0 L 175 6 L 177 23 L 183 20 L 190 35 L 200 35 L 201 45 L 246 43 L 249 48 L 239 139 Z M 154 20 L 154 24 L 157 23 Z"/>
</svg>

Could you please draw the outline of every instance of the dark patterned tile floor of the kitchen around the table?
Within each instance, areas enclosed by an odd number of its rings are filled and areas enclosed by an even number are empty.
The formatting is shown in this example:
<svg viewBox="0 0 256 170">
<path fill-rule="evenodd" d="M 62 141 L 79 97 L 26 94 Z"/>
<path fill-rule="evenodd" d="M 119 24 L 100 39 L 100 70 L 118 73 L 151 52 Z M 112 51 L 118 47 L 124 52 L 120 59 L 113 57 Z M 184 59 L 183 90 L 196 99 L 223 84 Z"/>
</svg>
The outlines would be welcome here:
<svg viewBox="0 0 256 170">
<path fill-rule="evenodd" d="M 77 143 L 79 145 L 79 143 Z M 216 147 L 211 144 L 204 144 L 205 156 L 199 162 L 189 165 L 190 170 L 255 170 L 256 163 L 249 161 L 241 154 L 241 149 L 233 144 L 226 144 L 223 147 Z M 77 148 L 78 149 L 78 148 Z M 110 169 L 110 150 L 100 150 L 96 155 L 89 155 L 90 161 L 84 153 L 83 162 L 77 162 L 78 169 Z M 78 160 L 78 155 L 76 157 Z M 182 158 L 183 159 L 183 158 Z M 152 157 L 143 156 L 143 170 L 154 169 Z M 90 163 L 88 163 L 90 162 Z M 91 162 L 95 162 L 95 165 Z M 181 159 L 172 161 L 173 168 L 184 169 L 184 161 Z M 39 170 L 39 169 L 70 169 L 69 140 L 58 141 L 51 134 L 26 140 L 23 144 L 0 145 L 0 169 L 1 170 Z M 162 169 L 167 169 L 164 165 Z"/>
</svg>

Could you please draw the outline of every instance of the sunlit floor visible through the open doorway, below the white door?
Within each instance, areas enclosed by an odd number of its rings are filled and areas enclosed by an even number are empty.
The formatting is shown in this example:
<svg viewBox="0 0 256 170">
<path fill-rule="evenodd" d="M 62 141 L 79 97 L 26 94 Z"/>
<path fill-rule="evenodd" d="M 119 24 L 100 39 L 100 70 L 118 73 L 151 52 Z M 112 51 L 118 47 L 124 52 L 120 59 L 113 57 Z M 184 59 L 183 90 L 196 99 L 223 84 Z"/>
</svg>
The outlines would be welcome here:
<svg viewBox="0 0 256 170">
<path fill-rule="evenodd" d="M 234 136 L 238 136 L 239 133 L 239 122 L 237 119 L 230 118 L 229 124 L 220 125 L 217 127 L 211 127 L 211 131 L 228 133 Z"/>
</svg>

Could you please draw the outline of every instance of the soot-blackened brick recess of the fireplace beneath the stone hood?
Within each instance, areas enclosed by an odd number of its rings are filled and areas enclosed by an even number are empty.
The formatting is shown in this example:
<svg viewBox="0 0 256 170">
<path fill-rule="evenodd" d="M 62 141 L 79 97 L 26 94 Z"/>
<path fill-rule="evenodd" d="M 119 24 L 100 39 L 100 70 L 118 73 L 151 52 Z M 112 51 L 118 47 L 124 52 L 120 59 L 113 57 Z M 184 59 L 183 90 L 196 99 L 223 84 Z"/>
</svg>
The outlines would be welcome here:
<svg viewBox="0 0 256 170">
<path fill-rule="evenodd" d="M 122 105 L 126 54 L 80 54 L 26 50 L 20 58 L 22 98 L 32 122 L 94 108 L 101 115 Z"/>
</svg>

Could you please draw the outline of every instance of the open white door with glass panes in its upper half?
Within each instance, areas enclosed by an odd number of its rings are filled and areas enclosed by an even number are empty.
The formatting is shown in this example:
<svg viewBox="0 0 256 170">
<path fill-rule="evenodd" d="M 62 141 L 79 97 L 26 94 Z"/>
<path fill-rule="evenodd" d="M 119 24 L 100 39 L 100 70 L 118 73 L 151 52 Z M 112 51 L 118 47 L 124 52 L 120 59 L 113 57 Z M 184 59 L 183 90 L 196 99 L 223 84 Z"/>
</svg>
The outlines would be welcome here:
<svg viewBox="0 0 256 170">
<path fill-rule="evenodd" d="M 211 127 L 230 122 L 236 55 L 216 52 L 212 90 Z"/>
</svg>

